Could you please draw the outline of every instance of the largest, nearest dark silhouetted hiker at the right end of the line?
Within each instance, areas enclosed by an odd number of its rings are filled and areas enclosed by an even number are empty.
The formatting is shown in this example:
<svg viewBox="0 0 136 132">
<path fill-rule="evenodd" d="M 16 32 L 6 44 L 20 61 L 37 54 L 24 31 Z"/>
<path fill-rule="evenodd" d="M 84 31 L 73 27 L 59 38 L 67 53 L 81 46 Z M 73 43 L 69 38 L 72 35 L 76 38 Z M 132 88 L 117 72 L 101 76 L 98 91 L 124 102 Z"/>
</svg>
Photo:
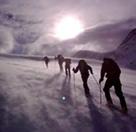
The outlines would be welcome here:
<svg viewBox="0 0 136 132">
<path fill-rule="evenodd" d="M 115 93 L 120 100 L 122 112 L 127 113 L 127 111 L 128 111 L 127 105 L 126 105 L 126 101 L 125 101 L 125 98 L 122 93 L 121 82 L 120 82 L 121 70 L 120 70 L 118 64 L 113 59 L 104 58 L 102 68 L 101 68 L 101 77 L 100 77 L 99 83 L 101 83 L 104 80 L 105 74 L 106 74 L 107 80 L 105 82 L 105 86 L 104 86 L 103 90 L 105 92 L 107 105 L 108 106 L 113 105 L 109 90 L 112 86 L 114 86 Z"/>
</svg>

